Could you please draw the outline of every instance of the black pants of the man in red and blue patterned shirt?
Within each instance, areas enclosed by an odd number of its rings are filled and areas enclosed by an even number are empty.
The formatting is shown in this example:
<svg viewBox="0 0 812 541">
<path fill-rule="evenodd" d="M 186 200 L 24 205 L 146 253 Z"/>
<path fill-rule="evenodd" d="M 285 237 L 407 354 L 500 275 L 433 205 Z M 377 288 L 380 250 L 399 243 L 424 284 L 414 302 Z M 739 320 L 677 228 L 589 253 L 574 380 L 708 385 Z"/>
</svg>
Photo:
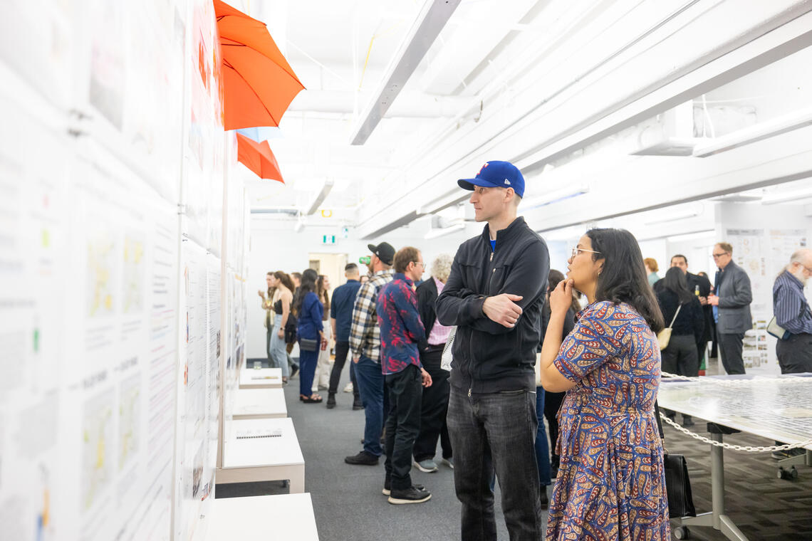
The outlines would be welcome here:
<svg viewBox="0 0 812 541">
<path fill-rule="evenodd" d="M 412 486 L 412 449 L 420 432 L 423 384 L 420 368 L 408 365 L 396 374 L 387 374 L 391 410 L 387 417 L 387 478 L 392 490 Z"/>
</svg>

